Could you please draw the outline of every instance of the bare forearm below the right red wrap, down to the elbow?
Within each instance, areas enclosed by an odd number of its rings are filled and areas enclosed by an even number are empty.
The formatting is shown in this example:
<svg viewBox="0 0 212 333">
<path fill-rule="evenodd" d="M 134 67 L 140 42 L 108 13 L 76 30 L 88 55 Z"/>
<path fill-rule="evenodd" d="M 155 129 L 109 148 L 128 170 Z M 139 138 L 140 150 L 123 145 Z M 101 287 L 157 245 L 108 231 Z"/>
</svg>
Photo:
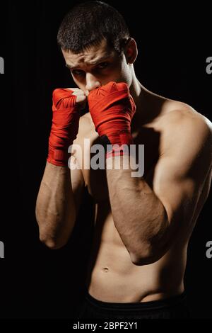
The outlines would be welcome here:
<svg viewBox="0 0 212 333">
<path fill-rule="evenodd" d="M 114 225 L 119 232 L 132 261 L 155 257 L 165 249 L 168 236 L 168 220 L 161 201 L 143 178 L 131 177 L 131 168 L 123 169 L 124 159 L 128 157 L 110 157 L 121 159 L 120 169 L 107 169 L 107 184 Z"/>
</svg>

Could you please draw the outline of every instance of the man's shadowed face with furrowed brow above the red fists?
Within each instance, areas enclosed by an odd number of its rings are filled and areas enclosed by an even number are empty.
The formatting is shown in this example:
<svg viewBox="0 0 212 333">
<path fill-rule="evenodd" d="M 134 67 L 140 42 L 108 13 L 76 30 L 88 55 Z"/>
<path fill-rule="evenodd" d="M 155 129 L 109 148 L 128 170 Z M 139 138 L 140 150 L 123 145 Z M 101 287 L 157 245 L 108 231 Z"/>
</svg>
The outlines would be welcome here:
<svg viewBox="0 0 212 333">
<path fill-rule="evenodd" d="M 73 81 L 86 94 L 110 81 L 131 85 L 131 72 L 124 54 L 119 56 L 107 46 L 105 40 L 77 55 L 64 50 L 62 52 Z"/>
</svg>

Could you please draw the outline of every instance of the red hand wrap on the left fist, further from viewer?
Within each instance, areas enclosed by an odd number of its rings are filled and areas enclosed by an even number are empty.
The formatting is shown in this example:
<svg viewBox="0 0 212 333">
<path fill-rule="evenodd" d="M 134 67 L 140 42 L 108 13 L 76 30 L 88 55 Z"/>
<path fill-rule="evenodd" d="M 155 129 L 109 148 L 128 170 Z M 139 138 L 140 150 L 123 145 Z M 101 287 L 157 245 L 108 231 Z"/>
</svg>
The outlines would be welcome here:
<svg viewBox="0 0 212 333">
<path fill-rule="evenodd" d="M 53 91 L 52 129 L 49 136 L 47 161 L 57 166 L 68 165 L 68 148 L 76 139 L 80 113 L 76 96 L 70 89 Z"/>
</svg>

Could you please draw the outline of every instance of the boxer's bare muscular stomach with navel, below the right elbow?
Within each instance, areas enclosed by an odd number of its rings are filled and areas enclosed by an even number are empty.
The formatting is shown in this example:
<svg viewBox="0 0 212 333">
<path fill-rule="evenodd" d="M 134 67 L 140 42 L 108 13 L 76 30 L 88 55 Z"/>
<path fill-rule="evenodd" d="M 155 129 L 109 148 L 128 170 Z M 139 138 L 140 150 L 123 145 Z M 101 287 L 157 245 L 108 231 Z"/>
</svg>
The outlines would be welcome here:
<svg viewBox="0 0 212 333">
<path fill-rule="evenodd" d="M 153 264 L 136 266 L 119 237 L 110 203 L 96 204 L 95 235 L 88 264 L 90 295 L 110 303 L 148 302 L 182 293 L 187 245 L 175 244 Z"/>
</svg>

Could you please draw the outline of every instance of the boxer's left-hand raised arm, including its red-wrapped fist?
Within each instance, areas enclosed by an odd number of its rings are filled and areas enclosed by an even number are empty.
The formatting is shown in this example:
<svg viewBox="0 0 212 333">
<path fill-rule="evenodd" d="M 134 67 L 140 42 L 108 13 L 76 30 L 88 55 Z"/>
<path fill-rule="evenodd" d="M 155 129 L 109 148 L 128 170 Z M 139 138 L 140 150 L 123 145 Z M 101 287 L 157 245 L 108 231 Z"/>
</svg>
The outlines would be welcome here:
<svg viewBox="0 0 212 333">
<path fill-rule="evenodd" d="M 83 192 L 81 170 L 69 169 L 68 147 L 76 139 L 79 109 L 85 103 L 86 96 L 80 89 L 53 92 L 49 154 L 35 208 L 40 240 L 51 249 L 63 247 L 68 241 Z M 74 154 L 71 159 L 76 159 Z"/>
</svg>

